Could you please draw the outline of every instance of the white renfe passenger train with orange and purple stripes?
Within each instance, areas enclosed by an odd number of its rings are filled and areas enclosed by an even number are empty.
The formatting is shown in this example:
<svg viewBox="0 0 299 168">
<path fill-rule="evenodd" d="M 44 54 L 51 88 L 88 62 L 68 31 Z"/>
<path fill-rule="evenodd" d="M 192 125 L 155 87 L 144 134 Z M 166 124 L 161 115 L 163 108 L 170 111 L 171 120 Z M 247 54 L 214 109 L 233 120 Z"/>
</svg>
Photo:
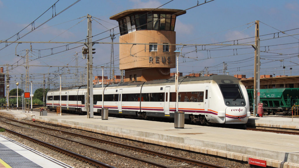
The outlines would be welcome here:
<svg viewBox="0 0 299 168">
<path fill-rule="evenodd" d="M 245 86 L 228 75 L 210 77 L 179 77 L 179 111 L 185 120 L 193 123 L 245 124 L 249 99 Z M 93 86 L 94 112 L 102 110 L 102 85 Z M 109 115 L 173 118 L 176 111 L 175 78 L 147 82 L 130 81 L 104 85 L 103 107 Z M 84 94 L 86 86 L 62 88 L 62 111 L 86 112 Z M 60 105 L 60 89 L 47 94 L 48 109 Z"/>
</svg>

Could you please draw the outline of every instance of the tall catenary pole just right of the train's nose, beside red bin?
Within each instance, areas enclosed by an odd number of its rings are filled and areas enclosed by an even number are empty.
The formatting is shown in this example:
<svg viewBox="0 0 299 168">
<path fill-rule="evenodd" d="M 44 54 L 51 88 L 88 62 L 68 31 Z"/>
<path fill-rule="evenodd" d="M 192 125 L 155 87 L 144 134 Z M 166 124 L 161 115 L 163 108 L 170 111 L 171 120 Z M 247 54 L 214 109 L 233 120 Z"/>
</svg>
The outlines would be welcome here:
<svg viewBox="0 0 299 168">
<path fill-rule="evenodd" d="M 257 114 L 257 106 L 260 103 L 260 37 L 259 20 L 255 21 L 255 48 L 254 48 L 254 102 L 253 115 Z"/>
</svg>

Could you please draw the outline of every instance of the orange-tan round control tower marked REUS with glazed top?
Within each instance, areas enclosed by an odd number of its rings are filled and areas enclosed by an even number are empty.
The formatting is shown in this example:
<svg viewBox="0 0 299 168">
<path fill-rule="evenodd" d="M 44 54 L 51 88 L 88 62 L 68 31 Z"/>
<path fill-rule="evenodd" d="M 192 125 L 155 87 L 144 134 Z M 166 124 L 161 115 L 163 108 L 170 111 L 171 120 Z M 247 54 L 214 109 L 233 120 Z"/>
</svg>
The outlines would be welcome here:
<svg viewBox="0 0 299 168">
<path fill-rule="evenodd" d="M 170 78 L 176 67 L 176 17 L 185 14 L 177 9 L 131 9 L 111 16 L 118 21 L 120 43 L 119 68 L 125 81 L 149 81 Z M 136 44 L 136 45 L 135 45 Z"/>
</svg>

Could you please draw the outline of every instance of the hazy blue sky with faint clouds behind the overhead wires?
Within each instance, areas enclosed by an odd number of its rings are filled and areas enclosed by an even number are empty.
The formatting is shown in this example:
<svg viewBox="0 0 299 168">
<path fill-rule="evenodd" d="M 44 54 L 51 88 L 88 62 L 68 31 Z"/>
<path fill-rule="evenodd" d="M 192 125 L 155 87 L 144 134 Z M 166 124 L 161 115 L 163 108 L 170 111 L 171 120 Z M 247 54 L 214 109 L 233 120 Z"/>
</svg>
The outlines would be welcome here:
<svg viewBox="0 0 299 168">
<path fill-rule="evenodd" d="M 16 40 L 17 42 L 85 42 L 86 16 L 89 14 L 94 19 L 92 20 L 93 41 L 111 42 L 110 33 L 114 32 L 116 37 L 114 42 L 119 42 L 118 22 L 110 20 L 110 16 L 128 9 L 160 6 L 160 8 L 186 10 L 186 14 L 177 17 L 175 27 L 176 44 L 194 44 L 184 47 L 182 57 L 179 57 L 179 71 L 183 75 L 203 71 L 210 74 L 223 74 L 225 63 L 229 75 L 243 74 L 247 78 L 253 77 L 254 48 L 248 44 L 254 44 L 256 20 L 260 21 L 260 74 L 299 75 L 299 1 L 214 0 L 206 4 L 202 4 L 204 0 L 81 0 L 76 2 L 75 0 L 58 2 L 57 0 L 0 0 L 0 40 L 2 40 L 0 65 L 4 67 L 4 73 L 9 70 L 11 83 L 21 83 L 21 74 L 24 74 L 25 80 L 26 49 L 29 49 L 29 80 L 33 80 L 33 91 L 43 87 L 44 75 L 46 88 L 59 87 L 58 74 L 60 73 L 63 87 L 85 82 L 86 79 L 82 78 L 82 74 L 86 73 L 83 67 L 86 67 L 87 62 L 82 57 L 83 46 L 79 44 L 65 46 L 66 44 L 57 43 L 31 43 L 30 46 L 30 43 L 17 45 L 17 43 L 6 43 L 5 40 L 9 42 Z M 55 7 L 52 8 L 54 4 Z M 202 5 L 195 7 L 197 4 Z M 33 21 L 34 24 L 31 24 Z M 205 44 L 246 45 L 208 46 Z M 180 49 L 182 46 L 176 47 Z M 93 75 L 101 76 L 100 65 L 110 67 L 111 45 L 95 44 L 93 48 L 96 49 L 96 54 L 93 54 L 93 65 L 98 66 L 93 69 Z M 117 69 L 118 48 L 119 46 L 115 44 L 116 75 L 120 75 Z M 76 62 L 80 68 L 71 68 L 77 65 Z M 6 64 L 10 66 L 5 66 Z M 170 71 L 176 72 L 176 68 Z M 105 68 L 104 76 L 109 75 L 110 68 Z M 16 88 L 14 84 L 10 86 L 10 89 Z"/>
</svg>

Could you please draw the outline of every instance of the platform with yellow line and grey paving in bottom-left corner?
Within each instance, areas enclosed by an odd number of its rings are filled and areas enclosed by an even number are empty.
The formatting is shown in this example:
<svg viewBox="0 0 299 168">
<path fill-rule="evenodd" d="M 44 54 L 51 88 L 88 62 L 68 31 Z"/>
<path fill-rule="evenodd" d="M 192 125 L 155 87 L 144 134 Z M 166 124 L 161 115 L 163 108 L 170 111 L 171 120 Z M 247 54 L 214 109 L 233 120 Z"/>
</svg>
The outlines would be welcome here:
<svg viewBox="0 0 299 168">
<path fill-rule="evenodd" d="M 71 168 L 54 158 L 0 134 L 1 168 Z"/>
</svg>

